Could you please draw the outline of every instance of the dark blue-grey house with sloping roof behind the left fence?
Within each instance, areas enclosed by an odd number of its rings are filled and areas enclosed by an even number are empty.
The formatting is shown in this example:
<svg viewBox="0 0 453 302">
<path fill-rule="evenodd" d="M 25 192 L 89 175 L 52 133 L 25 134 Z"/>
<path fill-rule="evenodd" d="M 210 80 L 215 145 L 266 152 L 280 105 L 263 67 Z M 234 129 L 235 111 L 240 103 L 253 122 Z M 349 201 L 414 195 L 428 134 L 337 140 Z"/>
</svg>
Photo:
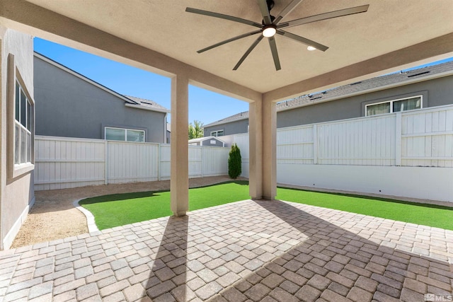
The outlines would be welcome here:
<svg viewBox="0 0 453 302">
<path fill-rule="evenodd" d="M 169 110 L 154 101 L 121 95 L 36 52 L 34 78 L 37 135 L 167 142 Z"/>
</svg>

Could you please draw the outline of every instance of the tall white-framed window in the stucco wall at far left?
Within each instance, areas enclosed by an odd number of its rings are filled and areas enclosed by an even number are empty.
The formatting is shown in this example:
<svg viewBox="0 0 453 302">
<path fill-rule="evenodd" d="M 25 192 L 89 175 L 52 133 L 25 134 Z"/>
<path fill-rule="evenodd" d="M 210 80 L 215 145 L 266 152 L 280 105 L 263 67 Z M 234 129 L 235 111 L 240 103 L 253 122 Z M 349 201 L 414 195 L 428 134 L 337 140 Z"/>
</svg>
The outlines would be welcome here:
<svg viewBox="0 0 453 302">
<path fill-rule="evenodd" d="M 31 163 L 33 106 L 16 81 L 14 118 L 14 165 Z"/>
</svg>

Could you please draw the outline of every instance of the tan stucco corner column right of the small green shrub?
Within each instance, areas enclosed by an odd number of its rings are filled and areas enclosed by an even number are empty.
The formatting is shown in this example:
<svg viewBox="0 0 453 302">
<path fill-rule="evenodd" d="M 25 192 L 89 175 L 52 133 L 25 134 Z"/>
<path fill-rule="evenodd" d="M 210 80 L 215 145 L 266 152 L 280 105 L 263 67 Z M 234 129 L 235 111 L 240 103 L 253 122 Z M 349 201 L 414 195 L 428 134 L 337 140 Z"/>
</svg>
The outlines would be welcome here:
<svg viewBox="0 0 453 302">
<path fill-rule="evenodd" d="M 249 105 L 249 184 L 253 199 L 274 199 L 277 192 L 275 103 Z"/>
</svg>

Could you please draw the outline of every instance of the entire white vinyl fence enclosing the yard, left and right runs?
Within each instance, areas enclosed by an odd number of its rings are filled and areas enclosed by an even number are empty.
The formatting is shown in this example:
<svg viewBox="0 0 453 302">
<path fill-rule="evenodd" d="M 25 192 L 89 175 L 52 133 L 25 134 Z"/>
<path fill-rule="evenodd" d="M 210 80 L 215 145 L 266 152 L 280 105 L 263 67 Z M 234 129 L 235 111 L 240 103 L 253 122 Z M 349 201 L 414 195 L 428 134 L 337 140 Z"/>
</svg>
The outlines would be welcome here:
<svg viewBox="0 0 453 302">
<path fill-rule="evenodd" d="M 248 134 L 222 140 L 248 177 Z M 35 190 L 170 178 L 166 144 L 36 137 L 35 152 Z M 190 177 L 226 175 L 228 153 L 189 146 Z M 277 182 L 453 202 L 453 105 L 277 129 Z"/>
</svg>

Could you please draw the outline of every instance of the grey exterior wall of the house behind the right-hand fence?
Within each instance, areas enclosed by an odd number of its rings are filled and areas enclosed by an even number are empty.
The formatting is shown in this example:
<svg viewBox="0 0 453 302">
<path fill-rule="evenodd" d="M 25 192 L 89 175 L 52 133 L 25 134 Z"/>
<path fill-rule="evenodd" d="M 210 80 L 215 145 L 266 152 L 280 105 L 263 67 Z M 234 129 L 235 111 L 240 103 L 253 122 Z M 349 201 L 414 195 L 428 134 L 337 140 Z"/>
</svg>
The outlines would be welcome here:
<svg viewBox="0 0 453 302">
<path fill-rule="evenodd" d="M 453 76 L 412 83 L 405 86 L 355 95 L 341 100 L 328 101 L 277 112 L 277 128 L 346 120 L 365 116 L 365 105 L 394 100 L 411 95 L 423 95 L 423 108 L 453 103 Z M 224 135 L 246 133 L 248 119 L 205 127 L 205 137 L 211 131 L 224 129 Z"/>
</svg>

